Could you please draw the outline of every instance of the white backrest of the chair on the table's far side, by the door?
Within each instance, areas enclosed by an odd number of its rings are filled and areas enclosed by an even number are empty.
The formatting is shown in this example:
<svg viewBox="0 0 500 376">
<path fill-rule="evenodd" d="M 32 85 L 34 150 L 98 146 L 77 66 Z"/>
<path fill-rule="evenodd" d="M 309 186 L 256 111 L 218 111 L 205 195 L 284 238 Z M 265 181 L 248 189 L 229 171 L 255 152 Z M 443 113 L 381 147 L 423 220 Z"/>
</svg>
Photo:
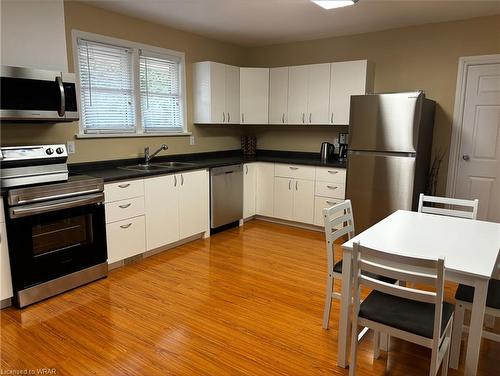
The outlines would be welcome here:
<svg viewBox="0 0 500 376">
<path fill-rule="evenodd" d="M 445 208 L 436 206 L 425 206 L 425 203 L 441 204 L 445 205 Z M 463 207 L 469 210 L 459 210 L 456 207 Z M 436 197 L 436 196 L 425 196 L 423 193 L 420 194 L 420 199 L 418 200 L 418 212 L 419 213 L 429 213 L 446 215 L 450 217 L 477 219 L 477 208 L 479 206 L 479 200 L 462 200 L 458 198 L 449 197 Z"/>
</svg>

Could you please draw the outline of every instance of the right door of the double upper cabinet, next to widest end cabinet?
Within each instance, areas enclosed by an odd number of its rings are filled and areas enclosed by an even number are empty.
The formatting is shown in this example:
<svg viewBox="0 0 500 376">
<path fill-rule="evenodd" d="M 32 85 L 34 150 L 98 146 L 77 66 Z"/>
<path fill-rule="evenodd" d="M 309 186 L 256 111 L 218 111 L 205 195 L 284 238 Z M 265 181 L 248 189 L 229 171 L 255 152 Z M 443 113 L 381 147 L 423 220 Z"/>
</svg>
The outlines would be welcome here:
<svg viewBox="0 0 500 376">
<path fill-rule="evenodd" d="M 307 75 L 307 118 L 309 124 L 328 124 L 330 104 L 330 65 L 308 66 Z"/>
</svg>

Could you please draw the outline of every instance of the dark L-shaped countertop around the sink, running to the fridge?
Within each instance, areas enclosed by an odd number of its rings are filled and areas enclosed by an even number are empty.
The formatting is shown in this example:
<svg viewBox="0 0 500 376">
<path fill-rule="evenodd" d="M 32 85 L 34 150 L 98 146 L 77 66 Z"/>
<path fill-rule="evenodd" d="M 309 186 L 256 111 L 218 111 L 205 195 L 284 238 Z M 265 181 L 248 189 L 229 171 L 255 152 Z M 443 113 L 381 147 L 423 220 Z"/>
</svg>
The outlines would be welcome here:
<svg viewBox="0 0 500 376">
<path fill-rule="evenodd" d="M 136 158 L 70 164 L 69 170 L 71 173 L 90 175 L 98 178 L 103 178 L 105 182 L 112 182 L 118 180 L 136 179 L 141 177 L 165 175 L 181 171 L 199 170 L 203 168 L 221 167 L 249 162 L 276 162 L 318 167 L 346 168 L 345 161 L 341 162 L 338 160 L 333 160 L 326 163 L 321 162 L 319 153 L 283 152 L 275 150 L 258 150 L 257 154 L 253 157 L 243 156 L 240 150 L 198 154 L 165 155 L 156 157 L 152 163 L 154 164 L 158 162 L 169 161 L 189 162 L 192 164 L 153 171 L 131 171 L 119 168 L 142 162 L 142 158 Z"/>
</svg>

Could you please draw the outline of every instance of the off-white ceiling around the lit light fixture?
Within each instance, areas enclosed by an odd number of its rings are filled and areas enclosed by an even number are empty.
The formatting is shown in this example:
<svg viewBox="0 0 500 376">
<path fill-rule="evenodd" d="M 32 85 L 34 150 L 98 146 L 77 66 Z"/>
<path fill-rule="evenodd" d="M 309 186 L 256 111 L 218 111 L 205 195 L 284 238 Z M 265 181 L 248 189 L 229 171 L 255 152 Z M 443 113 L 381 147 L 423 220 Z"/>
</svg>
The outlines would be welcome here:
<svg viewBox="0 0 500 376">
<path fill-rule="evenodd" d="M 500 14 L 499 0 L 359 0 L 324 10 L 309 0 L 89 0 L 176 29 L 257 46 Z"/>
</svg>

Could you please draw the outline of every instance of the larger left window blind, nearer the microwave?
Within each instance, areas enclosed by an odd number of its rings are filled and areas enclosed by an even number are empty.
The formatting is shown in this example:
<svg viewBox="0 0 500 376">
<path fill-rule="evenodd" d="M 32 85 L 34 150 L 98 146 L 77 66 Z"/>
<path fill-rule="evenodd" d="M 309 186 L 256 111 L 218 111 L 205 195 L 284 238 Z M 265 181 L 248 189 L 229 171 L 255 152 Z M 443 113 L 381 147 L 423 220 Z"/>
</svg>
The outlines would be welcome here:
<svg viewBox="0 0 500 376">
<path fill-rule="evenodd" d="M 135 132 L 131 50 L 80 39 L 78 59 L 85 133 Z"/>
</svg>

